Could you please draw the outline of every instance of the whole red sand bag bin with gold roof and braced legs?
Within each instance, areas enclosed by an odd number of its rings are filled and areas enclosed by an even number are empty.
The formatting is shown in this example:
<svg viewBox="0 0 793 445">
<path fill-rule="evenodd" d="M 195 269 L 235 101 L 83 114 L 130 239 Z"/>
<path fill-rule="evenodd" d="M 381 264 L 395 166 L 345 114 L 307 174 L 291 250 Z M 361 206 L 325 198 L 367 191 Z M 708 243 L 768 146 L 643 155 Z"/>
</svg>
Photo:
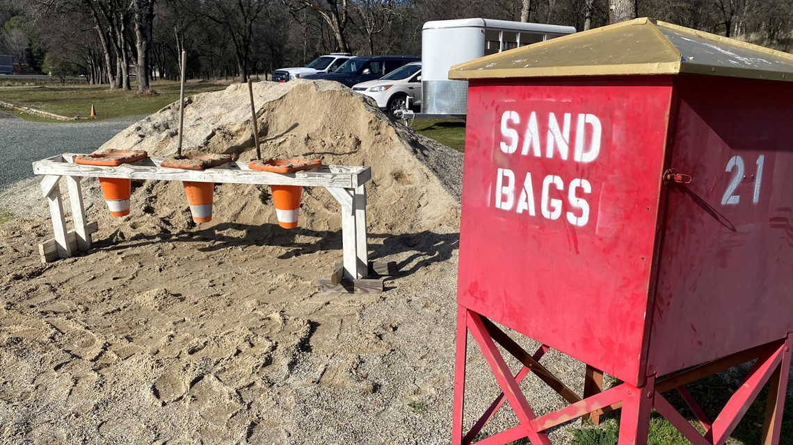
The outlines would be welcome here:
<svg viewBox="0 0 793 445">
<path fill-rule="evenodd" d="M 547 445 L 549 428 L 621 408 L 619 445 L 646 445 L 652 409 L 695 445 L 723 444 L 766 383 L 761 443 L 779 443 L 793 55 L 642 18 L 449 77 L 469 82 L 451 443 L 471 443 L 506 400 L 517 424 L 487 443 Z M 525 351 L 504 327 L 542 347 Z M 470 429 L 467 333 L 503 391 Z M 586 363 L 583 394 L 542 366 L 549 348 Z M 510 370 L 502 350 L 523 367 Z M 753 359 L 708 418 L 686 385 Z M 535 413 L 518 386 L 529 372 L 569 405 Z M 620 382 L 603 388 L 603 373 Z"/>
</svg>

